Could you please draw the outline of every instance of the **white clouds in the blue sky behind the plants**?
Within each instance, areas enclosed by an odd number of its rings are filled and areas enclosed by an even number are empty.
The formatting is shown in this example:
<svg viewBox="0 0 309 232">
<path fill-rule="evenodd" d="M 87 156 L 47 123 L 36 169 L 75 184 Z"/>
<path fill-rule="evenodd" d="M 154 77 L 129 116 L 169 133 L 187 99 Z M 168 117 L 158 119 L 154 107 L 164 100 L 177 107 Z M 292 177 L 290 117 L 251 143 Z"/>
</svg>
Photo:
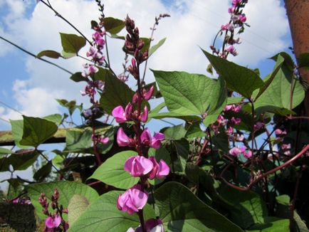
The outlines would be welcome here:
<svg viewBox="0 0 309 232">
<path fill-rule="evenodd" d="M 55 14 L 43 4 L 37 4 L 28 19 L 21 17 L 25 14 L 25 8 L 20 5 L 20 2 L 19 0 L 6 0 L 6 4 L 9 6 L 6 19 L 10 19 L 10 23 L 6 25 L 9 29 L 4 33 L 8 33 L 11 38 L 16 38 L 21 46 L 33 53 L 46 49 L 61 51 L 58 32 L 75 33 L 73 28 L 55 17 Z M 150 26 L 154 23 L 155 16 L 161 13 L 170 14 L 172 17 L 160 21 L 158 29 L 155 31 L 153 44 L 164 37 L 167 37 L 167 41 L 150 59 L 149 67 L 205 73 L 207 60 L 201 53 L 199 46 L 208 50 L 221 24 L 229 20 L 226 10 L 229 1 L 177 0 L 174 5 L 171 4 L 172 1 L 164 2 L 168 2 L 170 5 L 164 6 L 159 0 L 108 0 L 104 2 L 105 15 L 125 19 L 125 16 L 129 14 L 132 19 L 135 19 L 141 35 L 149 37 Z M 90 20 L 98 19 L 99 16 L 94 1 L 53 0 L 51 3 L 63 16 L 78 26 L 88 38 L 91 36 Z M 16 9 L 13 4 L 16 4 Z M 249 1 L 244 12 L 248 16 L 251 28 L 241 35 L 244 41 L 237 47 L 239 56 L 234 60 L 243 65 L 254 66 L 260 60 L 284 48 L 285 41 L 282 36 L 288 33 L 288 21 L 285 9 L 280 6 L 279 0 Z M 261 23 L 263 21 L 267 21 L 267 23 Z M 0 29 L 1 34 L 2 32 Z M 122 45 L 123 41 L 120 40 L 108 41 L 112 68 L 116 73 L 122 71 L 124 57 L 121 52 Z M 81 54 L 85 51 L 86 48 Z M 0 56 L 5 52 L 0 51 Z M 84 62 L 79 58 L 53 61 L 73 73 L 82 70 L 81 64 Z M 62 70 L 32 57 L 26 58 L 26 67 L 30 79 L 26 83 L 16 81 L 14 84 L 14 88 L 16 88 L 14 98 L 18 102 L 16 107 L 26 115 L 47 115 L 52 111 L 56 112 L 57 103 L 53 100 L 54 98 L 63 97 L 68 100 L 77 98 L 79 102 L 87 102 L 87 98 L 79 96 L 79 90 L 83 88 L 82 85 L 73 83 L 69 80 L 70 75 Z M 153 80 L 151 72 L 147 73 L 147 80 Z M 16 87 L 21 84 L 24 85 Z M 16 117 L 16 112 L 7 110 L 5 115 L 1 112 L 0 115 L 6 118 Z"/>
</svg>

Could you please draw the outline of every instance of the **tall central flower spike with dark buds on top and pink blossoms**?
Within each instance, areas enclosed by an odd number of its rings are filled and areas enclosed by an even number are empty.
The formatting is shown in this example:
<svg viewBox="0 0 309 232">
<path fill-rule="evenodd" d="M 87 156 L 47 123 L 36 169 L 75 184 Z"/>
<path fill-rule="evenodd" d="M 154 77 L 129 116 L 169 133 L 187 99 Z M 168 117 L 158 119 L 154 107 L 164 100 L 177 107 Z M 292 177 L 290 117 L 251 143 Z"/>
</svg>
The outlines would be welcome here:
<svg viewBox="0 0 309 232">
<path fill-rule="evenodd" d="M 147 204 L 148 192 L 145 189 L 147 179 L 162 179 L 169 174 L 169 166 L 161 159 L 159 162 L 155 157 L 148 157 L 150 147 L 158 149 L 164 140 L 164 134 L 156 132 L 151 135 L 150 130 L 142 126 L 148 120 L 147 100 L 152 97 L 155 87 L 142 88 L 140 81 L 140 64 L 147 60 L 148 51 L 142 51 L 144 41 L 140 38 L 135 22 L 127 16 L 125 20 L 127 36 L 125 37 L 125 51 L 132 55 L 129 73 L 137 80 L 137 91 L 125 108 L 119 105 L 112 110 L 112 116 L 116 122 L 133 122 L 134 135 L 128 136 L 120 127 L 117 131 L 117 144 L 120 147 L 134 147 L 137 155 L 128 158 L 124 164 L 124 170 L 134 177 L 140 177 L 135 186 L 120 194 L 117 199 L 117 209 L 129 214 L 138 213 L 143 218 L 142 209 Z M 142 106 L 143 103 L 143 106 Z M 164 231 L 162 221 L 151 218 L 136 229 L 129 228 L 128 231 Z"/>
</svg>

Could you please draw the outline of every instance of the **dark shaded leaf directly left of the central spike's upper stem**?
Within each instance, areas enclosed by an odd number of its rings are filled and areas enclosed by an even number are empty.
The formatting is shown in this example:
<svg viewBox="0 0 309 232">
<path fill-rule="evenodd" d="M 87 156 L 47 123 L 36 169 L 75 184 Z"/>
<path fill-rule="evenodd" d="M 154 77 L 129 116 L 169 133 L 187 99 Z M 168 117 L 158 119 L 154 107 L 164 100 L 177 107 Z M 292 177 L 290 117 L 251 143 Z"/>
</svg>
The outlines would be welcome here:
<svg viewBox="0 0 309 232">
<path fill-rule="evenodd" d="M 132 101 L 134 91 L 122 81 L 115 78 L 113 75 L 105 76 L 104 92 L 100 97 L 100 105 L 111 115 L 112 110 L 118 105 L 126 107 L 127 103 Z"/>
</svg>

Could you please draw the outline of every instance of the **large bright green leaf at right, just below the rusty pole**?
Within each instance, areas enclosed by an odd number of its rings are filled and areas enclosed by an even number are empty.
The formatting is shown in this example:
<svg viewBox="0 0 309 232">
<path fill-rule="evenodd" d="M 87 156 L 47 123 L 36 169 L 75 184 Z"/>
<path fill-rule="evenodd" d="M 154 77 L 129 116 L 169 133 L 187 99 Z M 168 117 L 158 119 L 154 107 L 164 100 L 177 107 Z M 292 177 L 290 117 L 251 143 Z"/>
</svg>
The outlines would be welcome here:
<svg viewBox="0 0 309 232">
<path fill-rule="evenodd" d="M 283 63 L 278 73 L 268 88 L 258 97 L 254 106 L 259 112 L 273 111 L 277 109 L 290 109 L 290 89 L 293 70 Z M 268 80 L 266 80 L 267 82 Z M 293 104 L 292 109 L 300 104 L 305 97 L 305 92 L 298 80 L 293 80 Z"/>
</svg>

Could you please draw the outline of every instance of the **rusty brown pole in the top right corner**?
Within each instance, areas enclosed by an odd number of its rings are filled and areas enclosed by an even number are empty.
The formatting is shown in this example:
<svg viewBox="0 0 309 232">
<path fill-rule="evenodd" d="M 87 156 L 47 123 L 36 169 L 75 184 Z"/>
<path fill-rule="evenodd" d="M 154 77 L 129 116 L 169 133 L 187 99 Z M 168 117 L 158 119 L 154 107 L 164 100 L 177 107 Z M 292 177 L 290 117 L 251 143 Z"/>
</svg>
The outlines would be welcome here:
<svg viewBox="0 0 309 232">
<path fill-rule="evenodd" d="M 296 60 L 301 53 L 309 53 L 309 0 L 285 0 L 286 13 Z M 300 68 L 300 76 L 309 83 L 309 70 Z M 305 94 L 305 115 L 309 116 L 309 90 Z"/>
</svg>

